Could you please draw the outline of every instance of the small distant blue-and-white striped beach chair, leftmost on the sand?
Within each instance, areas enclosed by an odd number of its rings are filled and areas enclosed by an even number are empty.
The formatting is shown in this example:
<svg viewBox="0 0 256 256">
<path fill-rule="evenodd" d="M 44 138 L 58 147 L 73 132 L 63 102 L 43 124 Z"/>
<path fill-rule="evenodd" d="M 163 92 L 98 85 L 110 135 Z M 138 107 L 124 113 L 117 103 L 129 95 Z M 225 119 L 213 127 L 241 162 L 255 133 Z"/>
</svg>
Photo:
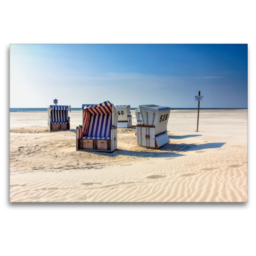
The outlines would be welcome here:
<svg viewBox="0 0 256 256">
<path fill-rule="evenodd" d="M 68 106 L 50 105 L 48 107 L 47 128 L 49 131 L 70 130 Z"/>
</svg>

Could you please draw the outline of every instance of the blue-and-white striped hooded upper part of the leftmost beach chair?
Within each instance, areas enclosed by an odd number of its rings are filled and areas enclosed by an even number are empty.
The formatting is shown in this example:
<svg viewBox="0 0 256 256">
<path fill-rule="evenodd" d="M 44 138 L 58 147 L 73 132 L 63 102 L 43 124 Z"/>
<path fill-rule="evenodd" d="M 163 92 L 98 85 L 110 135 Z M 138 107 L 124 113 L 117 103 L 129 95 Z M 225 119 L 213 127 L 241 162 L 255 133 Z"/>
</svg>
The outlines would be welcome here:
<svg viewBox="0 0 256 256">
<path fill-rule="evenodd" d="M 50 105 L 48 116 L 51 118 L 51 124 L 68 124 L 68 106 Z"/>
</svg>

